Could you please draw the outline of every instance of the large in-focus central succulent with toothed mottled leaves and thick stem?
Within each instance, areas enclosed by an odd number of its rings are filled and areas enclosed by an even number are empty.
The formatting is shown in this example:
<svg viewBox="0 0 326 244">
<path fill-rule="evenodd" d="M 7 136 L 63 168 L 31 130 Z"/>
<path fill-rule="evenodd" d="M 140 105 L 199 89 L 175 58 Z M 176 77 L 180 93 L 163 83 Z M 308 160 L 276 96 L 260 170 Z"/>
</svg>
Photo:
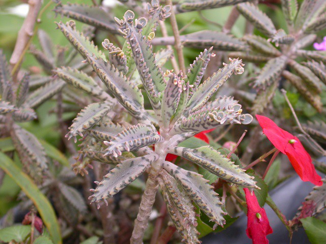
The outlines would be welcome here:
<svg viewBox="0 0 326 244">
<path fill-rule="evenodd" d="M 161 19 L 169 16 L 170 7 L 162 8 L 157 4 L 152 2 L 148 9 L 159 12 Z M 144 172 L 148 173 L 132 243 L 142 242 L 158 186 L 177 230 L 187 243 L 196 243 L 199 241 L 193 204 L 198 205 L 215 222 L 214 227 L 225 223 L 225 209 L 218 194 L 202 175 L 165 161 L 165 158 L 168 153 L 175 154 L 232 184 L 258 188 L 252 176 L 214 148 L 178 146 L 180 142 L 205 130 L 251 122 L 252 116 L 242 114 L 241 105 L 236 100 L 214 96 L 232 74 L 243 73 L 244 65 L 240 59 L 230 59 L 229 64 L 224 64 L 222 69 L 202 82 L 212 55 L 210 48 L 199 55 L 187 74 L 169 70 L 162 72 L 156 64 L 156 55 L 148 41 L 150 38 L 145 36 L 155 30 L 153 26 L 159 18 L 154 21 L 153 16 L 135 19 L 134 13 L 128 10 L 122 19 L 115 18 L 128 48 L 124 52 L 124 49 L 115 47 L 106 39 L 102 45 L 108 50 L 108 58 L 76 31 L 73 21 L 57 23 L 106 85 L 107 89 L 101 92 L 114 97 L 90 104 L 80 111 L 67 137 L 76 139 L 77 135 L 83 136 L 80 158 L 90 157 L 116 165 L 102 181 L 96 182 L 97 188 L 91 190 L 91 202 L 97 203 L 98 207 L 101 201 L 107 204 L 108 197 L 113 197 Z M 132 62 L 130 58 L 133 58 Z M 126 77 L 131 70 L 127 64 L 137 69 L 140 81 Z M 93 89 L 83 88 L 85 84 L 82 81 L 91 79 L 86 74 L 64 67 L 58 68 L 55 73 L 93 95 Z M 145 95 L 151 109 L 145 110 Z M 117 119 L 115 112 L 108 116 L 117 106 L 122 106 L 123 111 L 133 117 L 134 124 Z M 150 147 L 153 144 L 155 151 Z"/>
</svg>

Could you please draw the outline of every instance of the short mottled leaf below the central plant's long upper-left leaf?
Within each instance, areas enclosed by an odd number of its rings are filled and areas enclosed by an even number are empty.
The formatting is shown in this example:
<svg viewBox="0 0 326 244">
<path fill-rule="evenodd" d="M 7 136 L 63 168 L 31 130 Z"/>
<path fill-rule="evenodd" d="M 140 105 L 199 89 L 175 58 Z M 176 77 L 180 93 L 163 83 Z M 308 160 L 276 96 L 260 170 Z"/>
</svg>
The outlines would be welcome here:
<svg viewBox="0 0 326 244">
<path fill-rule="evenodd" d="M 55 73 L 67 83 L 73 85 L 77 89 L 94 96 L 100 100 L 110 100 L 111 97 L 94 81 L 94 79 L 82 71 L 71 68 L 58 68 Z"/>
</svg>

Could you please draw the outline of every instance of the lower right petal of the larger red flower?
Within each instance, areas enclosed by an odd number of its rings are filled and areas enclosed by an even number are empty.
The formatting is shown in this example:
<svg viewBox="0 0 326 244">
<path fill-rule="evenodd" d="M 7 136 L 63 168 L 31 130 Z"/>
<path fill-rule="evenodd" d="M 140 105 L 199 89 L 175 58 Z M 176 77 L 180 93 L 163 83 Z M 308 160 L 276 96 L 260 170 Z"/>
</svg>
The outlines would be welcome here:
<svg viewBox="0 0 326 244">
<path fill-rule="evenodd" d="M 307 153 L 300 140 L 294 137 L 293 144 L 288 143 L 285 153 L 289 158 L 295 172 L 303 181 L 310 181 L 312 184 L 321 186 L 321 177 L 317 174 L 312 164 L 310 155 Z"/>
</svg>

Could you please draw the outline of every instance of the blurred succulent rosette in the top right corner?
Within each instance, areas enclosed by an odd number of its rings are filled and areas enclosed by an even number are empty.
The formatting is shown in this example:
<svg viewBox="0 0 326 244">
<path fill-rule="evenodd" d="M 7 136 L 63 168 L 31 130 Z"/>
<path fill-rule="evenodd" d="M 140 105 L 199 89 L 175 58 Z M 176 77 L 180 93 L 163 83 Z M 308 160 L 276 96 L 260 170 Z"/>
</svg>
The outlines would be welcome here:
<svg viewBox="0 0 326 244">
<path fill-rule="evenodd" d="M 247 35 L 242 38 L 249 49 L 230 53 L 254 63 L 266 62 L 253 82 L 257 97 L 252 111 L 262 110 L 273 98 L 281 77 L 288 80 L 298 92 L 317 111 L 322 103 L 319 94 L 325 83 L 326 61 L 324 51 L 304 50 L 315 39 L 315 33 L 326 27 L 324 11 L 326 3 L 322 0 L 304 1 L 298 9 L 296 0 L 282 0 L 282 10 L 287 23 L 287 30 L 277 30 L 274 23 L 257 6 L 251 3 L 237 5 L 237 10 L 250 21 L 264 37 Z M 274 43 L 274 45 L 273 45 Z M 301 64 L 300 58 L 307 59 Z"/>
</svg>

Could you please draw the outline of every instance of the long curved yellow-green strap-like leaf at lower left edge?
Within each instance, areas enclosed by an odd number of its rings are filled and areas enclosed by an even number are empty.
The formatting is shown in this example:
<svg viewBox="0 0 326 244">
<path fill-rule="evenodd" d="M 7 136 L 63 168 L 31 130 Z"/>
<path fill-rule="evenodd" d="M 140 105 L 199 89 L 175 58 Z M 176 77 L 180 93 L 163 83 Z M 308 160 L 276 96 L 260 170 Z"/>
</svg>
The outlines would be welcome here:
<svg viewBox="0 0 326 244">
<path fill-rule="evenodd" d="M 32 179 L 3 153 L 0 153 L 0 167 L 16 181 L 26 196 L 33 201 L 53 241 L 56 244 L 61 244 L 59 223 L 48 199 L 40 192 Z"/>
</svg>

